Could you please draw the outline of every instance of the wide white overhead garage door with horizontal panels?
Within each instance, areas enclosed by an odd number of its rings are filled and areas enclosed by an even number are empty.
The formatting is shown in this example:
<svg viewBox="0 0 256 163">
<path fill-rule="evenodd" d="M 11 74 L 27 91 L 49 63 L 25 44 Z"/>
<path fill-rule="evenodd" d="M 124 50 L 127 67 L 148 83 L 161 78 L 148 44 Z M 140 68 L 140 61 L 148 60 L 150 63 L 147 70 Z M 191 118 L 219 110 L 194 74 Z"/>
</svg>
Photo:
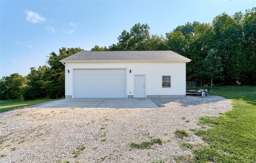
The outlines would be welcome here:
<svg viewBox="0 0 256 163">
<path fill-rule="evenodd" d="M 74 98 L 126 98 L 126 70 L 74 69 Z"/>
</svg>

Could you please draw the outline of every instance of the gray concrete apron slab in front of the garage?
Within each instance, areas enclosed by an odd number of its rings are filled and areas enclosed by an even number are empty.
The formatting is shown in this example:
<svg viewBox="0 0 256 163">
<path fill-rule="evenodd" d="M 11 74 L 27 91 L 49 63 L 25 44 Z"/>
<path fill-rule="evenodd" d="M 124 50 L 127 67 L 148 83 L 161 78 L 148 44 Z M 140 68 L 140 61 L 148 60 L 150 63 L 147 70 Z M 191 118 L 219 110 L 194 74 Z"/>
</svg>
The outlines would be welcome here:
<svg viewBox="0 0 256 163">
<path fill-rule="evenodd" d="M 149 98 L 74 98 L 35 108 L 158 108 Z"/>
</svg>

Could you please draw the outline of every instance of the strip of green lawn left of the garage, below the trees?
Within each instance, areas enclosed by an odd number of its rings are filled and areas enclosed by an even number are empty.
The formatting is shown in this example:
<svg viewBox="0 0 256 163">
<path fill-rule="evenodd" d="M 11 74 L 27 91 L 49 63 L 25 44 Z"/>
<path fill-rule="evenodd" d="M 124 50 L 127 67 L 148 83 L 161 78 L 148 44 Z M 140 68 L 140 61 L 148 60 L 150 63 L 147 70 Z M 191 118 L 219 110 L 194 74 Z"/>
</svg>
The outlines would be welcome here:
<svg viewBox="0 0 256 163">
<path fill-rule="evenodd" d="M 63 98 L 58 98 L 58 99 L 38 98 L 38 99 L 34 99 L 34 100 L 24 100 L 23 104 L 20 100 L 0 100 L 0 112 L 12 110 L 15 108 L 21 108 L 24 106 L 40 104 L 43 102 L 61 100 L 61 99 L 63 99 Z"/>
</svg>

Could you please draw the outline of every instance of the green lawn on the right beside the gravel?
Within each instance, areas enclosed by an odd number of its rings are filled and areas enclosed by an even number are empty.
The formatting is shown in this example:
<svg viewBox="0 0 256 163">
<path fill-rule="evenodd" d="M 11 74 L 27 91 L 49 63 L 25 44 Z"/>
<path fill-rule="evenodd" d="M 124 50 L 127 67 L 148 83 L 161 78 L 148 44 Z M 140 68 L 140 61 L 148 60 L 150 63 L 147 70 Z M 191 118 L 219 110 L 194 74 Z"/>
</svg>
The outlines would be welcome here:
<svg viewBox="0 0 256 163">
<path fill-rule="evenodd" d="M 211 126 L 197 130 L 209 145 L 195 149 L 195 162 L 256 162 L 256 86 L 216 86 L 212 95 L 232 100 L 232 110 L 220 117 L 200 118 Z"/>
</svg>

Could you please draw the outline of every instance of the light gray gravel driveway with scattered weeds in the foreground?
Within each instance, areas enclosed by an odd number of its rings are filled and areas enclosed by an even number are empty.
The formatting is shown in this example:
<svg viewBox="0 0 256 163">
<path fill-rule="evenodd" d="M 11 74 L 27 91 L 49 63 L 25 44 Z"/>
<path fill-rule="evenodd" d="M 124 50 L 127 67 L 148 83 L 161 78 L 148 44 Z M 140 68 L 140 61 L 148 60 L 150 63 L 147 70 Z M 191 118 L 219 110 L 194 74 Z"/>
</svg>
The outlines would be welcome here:
<svg viewBox="0 0 256 163">
<path fill-rule="evenodd" d="M 172 163 L 192 154 L 182 142 L 204 143 L 189 130 L 200 128 L 199 117 L 220 116 L 232 108 L 230 100 L 219 96 L 151 100 L 160 107 L 25 108 L 0 114 L 0 162 Z M 177 129 L 190 136 L 177 138 Z M 130 146 L 152 138 L 163 144 Z"/>
</svg>

